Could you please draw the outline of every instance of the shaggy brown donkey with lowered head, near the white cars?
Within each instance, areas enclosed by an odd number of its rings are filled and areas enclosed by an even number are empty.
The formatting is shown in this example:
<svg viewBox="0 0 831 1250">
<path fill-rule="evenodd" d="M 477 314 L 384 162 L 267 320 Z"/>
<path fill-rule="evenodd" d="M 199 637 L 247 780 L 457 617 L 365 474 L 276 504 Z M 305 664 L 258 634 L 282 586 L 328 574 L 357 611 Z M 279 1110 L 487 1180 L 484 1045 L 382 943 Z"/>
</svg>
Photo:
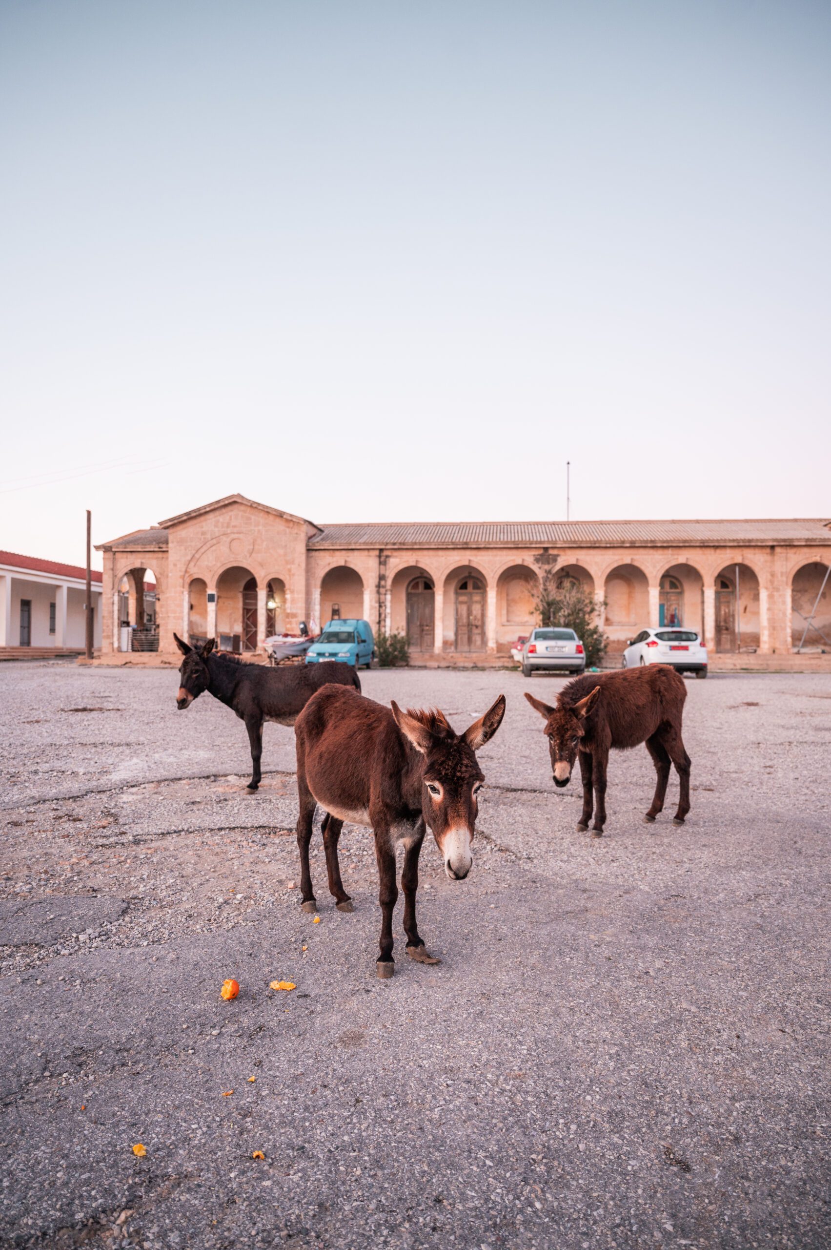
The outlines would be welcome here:
<svg viewBox="0 0 831 1250">
<path fill-rule="evenodd" d="M 581 834 L 589 829 L 591 820 L 592 788 L 596 808 L 591 831 L 595 838 L 604 831 L 610 749 L 627 750 L 641 742 L 646 742 L 657 772 L 655 798 L 646 820 L 651 824 L 664 809 L 671 761 L 681 782 L 674 824 L 684 824 L 690 810 L 690 756 L 681 739 L 686 696 L 684 679 L 665 664 L 577 678 L 560 691 L 556 708 L 525 695 L 545 718 L 554 784 L 567 785 L 575 759 L 580 760 L 582 815 L 577 829 Z"/>
</svg>

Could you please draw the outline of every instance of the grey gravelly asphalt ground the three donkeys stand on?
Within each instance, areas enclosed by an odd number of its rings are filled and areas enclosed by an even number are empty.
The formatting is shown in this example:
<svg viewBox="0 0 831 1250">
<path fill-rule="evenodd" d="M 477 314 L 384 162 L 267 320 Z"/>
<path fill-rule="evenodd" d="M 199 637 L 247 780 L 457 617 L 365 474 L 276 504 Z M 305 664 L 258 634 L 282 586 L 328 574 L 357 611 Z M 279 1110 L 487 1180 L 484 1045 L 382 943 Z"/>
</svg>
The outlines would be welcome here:
<svg viewBox="0 0 831 1250">
<path fill-rule="evenodd" d="M 425 841 L 444 961 L 399 902 L 385 982 L 366 831 L 355 914 L 317 838 L 300 911 L 291 730 L 247 795 L 241 722 L 175 672 L 0 665 L 0 1244 L 827 1246 L 831 678 L 690 681 L 687 824 L 675 776 L 642 822 L 637 749 L 600 840 L 521 698 L 560 679 L 362 680 L 457 728 L 507 696 L 470 878 Z"/>
</svg>

